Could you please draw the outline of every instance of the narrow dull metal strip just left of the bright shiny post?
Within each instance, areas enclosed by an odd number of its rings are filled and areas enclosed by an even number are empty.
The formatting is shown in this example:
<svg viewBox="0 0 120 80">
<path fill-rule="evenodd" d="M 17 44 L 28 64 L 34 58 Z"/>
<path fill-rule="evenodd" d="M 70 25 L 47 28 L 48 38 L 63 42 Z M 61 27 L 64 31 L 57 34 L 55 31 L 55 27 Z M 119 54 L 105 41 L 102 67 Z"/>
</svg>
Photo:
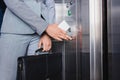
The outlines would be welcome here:
<svg viewBox="0 0 120 80">
<path fill-rule="evenodd" d="M 90 80 L 90 34 L 89 34 L 89 0 L 80 2 L 80 22 L 82 27 L 81 79 Z"/>
</svg>

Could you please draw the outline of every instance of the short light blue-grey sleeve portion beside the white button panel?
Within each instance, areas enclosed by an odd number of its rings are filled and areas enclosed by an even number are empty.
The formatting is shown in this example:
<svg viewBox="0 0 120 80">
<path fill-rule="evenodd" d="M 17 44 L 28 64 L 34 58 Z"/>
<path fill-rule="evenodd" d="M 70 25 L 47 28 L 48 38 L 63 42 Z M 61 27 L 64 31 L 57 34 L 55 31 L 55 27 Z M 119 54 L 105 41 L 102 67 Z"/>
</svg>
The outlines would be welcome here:
<svg viewBox="0 0 120 80">
<path fill-rule="evenodd" d="M 55 1 L 43 0 L 42 15 L 49 24 L 55 23 Z"/>
</svg>

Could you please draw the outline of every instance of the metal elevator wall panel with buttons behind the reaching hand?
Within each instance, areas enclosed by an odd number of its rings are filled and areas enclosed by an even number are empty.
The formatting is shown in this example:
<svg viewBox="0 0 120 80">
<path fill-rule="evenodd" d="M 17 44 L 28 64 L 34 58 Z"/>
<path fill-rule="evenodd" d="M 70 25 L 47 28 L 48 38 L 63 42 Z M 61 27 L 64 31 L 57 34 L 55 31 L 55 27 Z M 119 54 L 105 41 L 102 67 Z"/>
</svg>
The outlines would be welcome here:
<svg viewBox="0 0 120 80">
<path fill-rule="evenodd" d="M 53 43 L 54 51 L 62 52 L 62 80 L 81 80 L 80 0 L 55 0 L 55 2 L 56 22 L 59 24 L 65 20 L 71 27 L 77 29 L 74 40 Z M 56 50 L 55 46 L 58 45 Z"/>
</svg>

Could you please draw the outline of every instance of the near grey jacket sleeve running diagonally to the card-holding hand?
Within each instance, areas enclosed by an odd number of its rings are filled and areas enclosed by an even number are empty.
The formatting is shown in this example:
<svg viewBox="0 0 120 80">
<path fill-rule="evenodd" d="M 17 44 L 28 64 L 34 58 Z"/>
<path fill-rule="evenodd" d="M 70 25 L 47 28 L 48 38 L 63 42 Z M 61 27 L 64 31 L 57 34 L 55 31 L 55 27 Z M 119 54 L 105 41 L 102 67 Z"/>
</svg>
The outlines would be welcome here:
<svg viewBox="0 0 120 80">
<path fill-rule="evenodd" d="M 48 26 L 48 23 L 40 16 L 36 15 L 23 0 L 4 0 L 8 9 L 17 17 L 41 35 Z"/>
</svg>

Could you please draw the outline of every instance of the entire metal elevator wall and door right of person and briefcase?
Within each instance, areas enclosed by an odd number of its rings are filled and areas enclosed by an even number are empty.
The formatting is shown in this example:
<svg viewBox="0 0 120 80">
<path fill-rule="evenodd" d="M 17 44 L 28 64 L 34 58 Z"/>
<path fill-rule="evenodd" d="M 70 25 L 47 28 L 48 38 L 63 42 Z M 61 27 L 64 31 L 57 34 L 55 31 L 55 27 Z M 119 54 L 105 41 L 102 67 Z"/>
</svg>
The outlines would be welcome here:
<svg viewBox="0 0 120 80">
<path fill-rule="evenodd" d="M 77 38 L 61 42 L 59 48 L 63 55 L 63 80 L 106 80 L 105 73 L 108 80 L 120 79 L 120 1 L 73 0 L 72 17 L 68 17 L 66 4 L 70 1 L 56 0 L 57 23 L 72 18 L 78 29 Z"/>
</svg>

